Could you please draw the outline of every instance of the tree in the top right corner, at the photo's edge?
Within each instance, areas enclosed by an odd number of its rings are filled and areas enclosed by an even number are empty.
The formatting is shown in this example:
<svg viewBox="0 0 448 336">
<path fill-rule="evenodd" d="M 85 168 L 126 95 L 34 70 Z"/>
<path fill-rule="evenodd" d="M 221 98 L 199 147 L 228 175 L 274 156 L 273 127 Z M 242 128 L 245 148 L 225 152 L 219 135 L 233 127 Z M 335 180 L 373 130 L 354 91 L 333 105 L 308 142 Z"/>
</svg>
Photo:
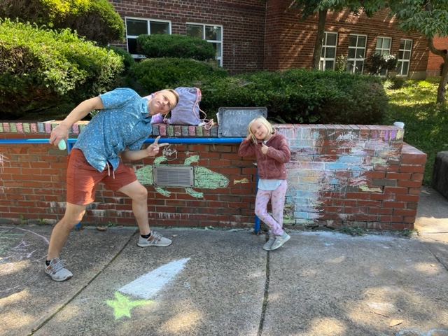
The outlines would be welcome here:
<svg viewBox="0 0 448 336">
<path fill-rule="evenodd" d="M 385 1 L 391 8 L 391 15 L 398 19 L 402 31 L 414 31 L 426 36 L 428 48 L 433 54 L 442 57 L 443 70 L 437 89 L 437 103 L 446 102 L 448 83 L 447 49 L 434 46 L 434 36 L 448 36 L 448 0 L 391 0 Z"/>
</svg>

